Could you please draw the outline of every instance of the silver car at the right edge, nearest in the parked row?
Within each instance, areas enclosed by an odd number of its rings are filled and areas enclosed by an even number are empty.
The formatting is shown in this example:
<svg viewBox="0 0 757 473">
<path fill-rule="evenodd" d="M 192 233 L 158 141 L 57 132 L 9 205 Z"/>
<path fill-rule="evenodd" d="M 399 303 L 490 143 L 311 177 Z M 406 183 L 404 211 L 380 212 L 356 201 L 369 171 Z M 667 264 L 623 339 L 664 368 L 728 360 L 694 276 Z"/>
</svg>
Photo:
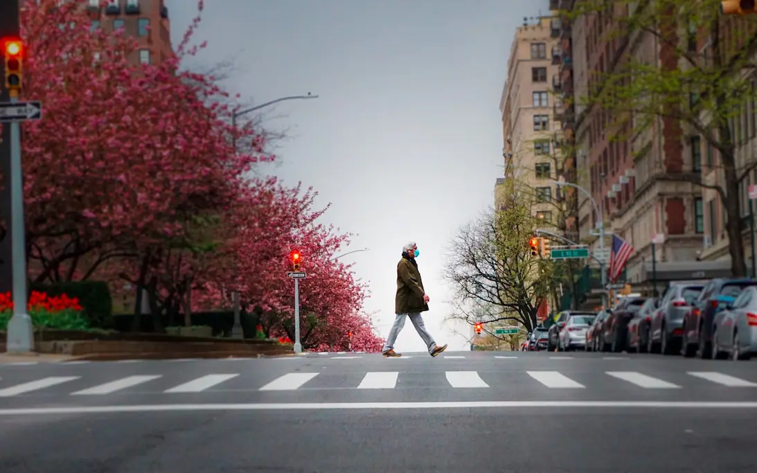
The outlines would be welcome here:
<svg viewBox="0 0 757 473">
<path fill-rule="evenodd" d="M 748 286 L 712 323 L 715 359 L 749 359 L 757 354 L 757 286 Z"/>
</svg>

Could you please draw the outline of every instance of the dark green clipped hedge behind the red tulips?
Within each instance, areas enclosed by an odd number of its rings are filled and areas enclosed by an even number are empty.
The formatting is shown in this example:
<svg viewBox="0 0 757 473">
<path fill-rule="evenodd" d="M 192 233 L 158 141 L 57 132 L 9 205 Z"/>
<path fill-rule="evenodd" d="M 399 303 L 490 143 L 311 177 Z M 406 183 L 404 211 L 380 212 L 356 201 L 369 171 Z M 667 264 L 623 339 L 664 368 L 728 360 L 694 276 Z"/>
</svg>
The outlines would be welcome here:
<svg viewBox="0 0 757 473">
<path fill-rule="evenodd" d="M 32 284 L 31 291 L 44 292 L 55 297 L 66 294 L 76 297 L 82 306 L 82 313 L 90 327 L 107 328 L 113 325 L 113 299 L 106 282 L 76 281 L 52 284 Z"/>
</svg>

